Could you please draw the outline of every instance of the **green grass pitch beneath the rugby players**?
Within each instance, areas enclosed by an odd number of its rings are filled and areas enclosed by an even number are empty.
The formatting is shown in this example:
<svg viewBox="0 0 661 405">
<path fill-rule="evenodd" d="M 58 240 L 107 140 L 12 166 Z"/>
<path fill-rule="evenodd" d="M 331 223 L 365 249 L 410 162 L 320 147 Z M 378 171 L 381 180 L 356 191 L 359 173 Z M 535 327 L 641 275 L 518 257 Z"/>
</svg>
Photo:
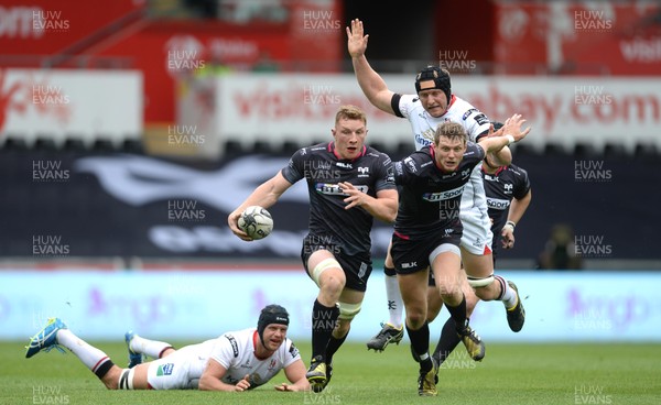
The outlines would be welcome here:
<svg viewBox="0 0 661 405">
<path fill-rule="evenodd" d="M 335 357 L 334 376 L 321 394 L 280 393 L 281 372 L 245 393 L 199 391 L 108 391 L 67 351 L 24 358 L 25 342 L 0 342 L 0 404 L 660 404 L 661 344 L 489 344 L 483 362 L 459 347 L 440 371 L 438 396 L 418 396 L 418 365 L 409 344 L 383 353 L 346 343 Z M 181 347 L 185 343 L 175 344 Z M 94 344 L 94 342 L 93 342 Z M 124 366 L 123 342 L 99 342 Z M 303 360 L 310 346 L 299 344 Z"/>
</svg>

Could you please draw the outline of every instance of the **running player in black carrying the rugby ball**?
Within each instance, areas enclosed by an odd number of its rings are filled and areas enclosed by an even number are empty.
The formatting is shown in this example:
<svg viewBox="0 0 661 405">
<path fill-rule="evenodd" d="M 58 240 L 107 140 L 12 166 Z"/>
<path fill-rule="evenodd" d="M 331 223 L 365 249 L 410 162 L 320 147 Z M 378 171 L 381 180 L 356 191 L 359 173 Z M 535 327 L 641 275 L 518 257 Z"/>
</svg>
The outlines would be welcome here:
<svg viewBox="0 0 661 405">
<path fill-rule="evenodd" d="M 365 145 L 365 112 L 340 107 L 332 133 L 333 142 L 299 150 L 286 167 L 257 187 L 228 217 L 231 231 L 249 241 L 237 223 L 243 209 L 271 207 L 294 183 L 307 183 L 310 232 L 301 259 L 319 288 L 312 309 L 312 361 L 306 374 L 315 392 L 328 384 L 333 354 L 360 310 L 372 270 L 373 218 L 394 221 L 398 204 L 390 157 Z"/>
</svg>

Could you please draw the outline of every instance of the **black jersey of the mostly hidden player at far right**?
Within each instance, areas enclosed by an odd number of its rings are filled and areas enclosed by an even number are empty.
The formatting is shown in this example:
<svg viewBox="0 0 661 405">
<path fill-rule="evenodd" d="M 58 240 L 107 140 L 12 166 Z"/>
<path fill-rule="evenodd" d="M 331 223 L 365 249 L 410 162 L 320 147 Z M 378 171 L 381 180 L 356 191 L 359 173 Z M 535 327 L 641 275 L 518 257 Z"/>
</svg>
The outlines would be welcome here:
<svg viewBox="0 0 661 405">
<path fill-rule="evenodd" d="M 492 250 L 500 245 L 500 231 L 507 222 L 509 206 L 512 198 L 521 199 L 530 190 L 528 172 L 517 165 L 502 166 L 494 174 L 481 171 L 485 193 L 487 195 L 487 207 L 489 218 L 494 220 L 491 232 L 494 232 Z"/>
</svg>

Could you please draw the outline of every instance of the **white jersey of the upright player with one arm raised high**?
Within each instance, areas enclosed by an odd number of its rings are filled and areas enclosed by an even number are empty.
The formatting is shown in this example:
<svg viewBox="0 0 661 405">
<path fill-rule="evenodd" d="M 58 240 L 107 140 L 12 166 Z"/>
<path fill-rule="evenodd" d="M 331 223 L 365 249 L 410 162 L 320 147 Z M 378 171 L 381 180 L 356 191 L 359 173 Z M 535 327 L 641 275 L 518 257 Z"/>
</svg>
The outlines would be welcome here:
<svg viewBox="0 0 661 405">
<path fill-rule="evenodd" d="M 436 128 L 446 121 L 460 123 L 473 142 L 477 142 L 480 133 L 489 131 L 490 121 L 487 116 L 455 95 L 452 95 L 447 111 L 437 118 L 430 116 L 416 95 L 400 95 L 398 107 L 399 111 L 395 110 L 394 113 L 409 119 L 418 151 L 434 143 Z M 488 217 L 487 197 L 479 165 L 475 167 L 470 174 L 470 182 L 464 188 L 459 216 L 465 222 L 475 222 L 478 218 Z"/>
</svg>

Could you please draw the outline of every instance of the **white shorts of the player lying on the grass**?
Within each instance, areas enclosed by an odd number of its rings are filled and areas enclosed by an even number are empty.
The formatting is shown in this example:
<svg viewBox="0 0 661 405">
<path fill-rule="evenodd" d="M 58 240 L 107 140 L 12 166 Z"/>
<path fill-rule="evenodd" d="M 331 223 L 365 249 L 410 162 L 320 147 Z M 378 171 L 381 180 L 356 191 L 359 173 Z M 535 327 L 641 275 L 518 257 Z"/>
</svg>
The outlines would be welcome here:
<svg viewBox="0 0 661 405">
<path fill-rule="evenodd" d="M 205 343 L 186 346 L 149 364 L 147 382 L 154 390 L 197 390 L 206 366 Z"/>
</svg>

